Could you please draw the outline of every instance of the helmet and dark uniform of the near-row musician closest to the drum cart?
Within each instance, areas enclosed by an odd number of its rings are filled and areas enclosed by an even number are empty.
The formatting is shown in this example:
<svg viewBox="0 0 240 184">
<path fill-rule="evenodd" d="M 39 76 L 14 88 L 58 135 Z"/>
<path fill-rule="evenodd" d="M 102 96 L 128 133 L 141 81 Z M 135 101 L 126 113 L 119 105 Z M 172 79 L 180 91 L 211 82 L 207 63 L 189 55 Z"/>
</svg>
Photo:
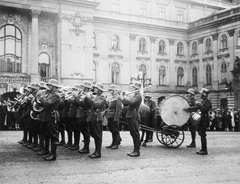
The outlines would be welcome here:
<svg viewBox="0 0 240 184">
<path fill-rule="evenodd" d="M 136 81 L 132 88 L 136 90 L 140 90 L 141 83 Z M 130 134 L 133 138 L 133 144 L 134 144 L 134 150 L 132 153 L 127 154 L 130 157 L 138 157 L 140 156 L 140 134 L 139 134 L 139 107 L 142 102 L 142 96 L 140 92 L 136 92 L 133 97 L 128 99 L 127 97 L 124 97 L 123 105 L 129 106 L 129 109 L 126 114 L 126 118 L 128 121 L 128 126 L 130 130 Z"/>
</svg>

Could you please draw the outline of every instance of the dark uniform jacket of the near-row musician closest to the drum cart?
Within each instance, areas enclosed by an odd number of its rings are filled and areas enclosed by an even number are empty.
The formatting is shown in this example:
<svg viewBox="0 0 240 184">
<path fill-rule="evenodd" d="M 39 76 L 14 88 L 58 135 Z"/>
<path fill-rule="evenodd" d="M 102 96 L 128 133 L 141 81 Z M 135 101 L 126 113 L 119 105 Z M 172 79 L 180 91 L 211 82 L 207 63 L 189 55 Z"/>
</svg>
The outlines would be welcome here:
<svg viewBox="0 0 240 184">
<path fill-rule="evenodd" d="M 130 99 L 123 98 L 122 102 L 123 105 L 129 106 L 126 118 L 137 118 L 137 116 L 139 116 L 138 110 L 142 102 L 142 96 L 140 93 L 135 93 Z"/>
</svg>

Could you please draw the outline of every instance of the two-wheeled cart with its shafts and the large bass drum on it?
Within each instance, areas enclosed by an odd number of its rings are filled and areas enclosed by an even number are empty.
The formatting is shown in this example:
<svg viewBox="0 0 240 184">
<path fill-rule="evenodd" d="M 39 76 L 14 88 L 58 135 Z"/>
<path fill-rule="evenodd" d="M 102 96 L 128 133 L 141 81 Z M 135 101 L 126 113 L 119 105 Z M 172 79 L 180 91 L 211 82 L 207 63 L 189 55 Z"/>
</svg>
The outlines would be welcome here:
<svg viewBox="0 0 240 184">
<path fill-rule="evenodd" d="M 169 147 L 178 148 L 184 141 L 185 135 L 182 126 L 187 123 L 190 113 L 188 101 L 180 95 L 171 95 L 160 104 L 160 115 L 163 122 L 156 128 L 140 124 L 141 129 L 156 133 L 158 141 Z"/>
</svg>

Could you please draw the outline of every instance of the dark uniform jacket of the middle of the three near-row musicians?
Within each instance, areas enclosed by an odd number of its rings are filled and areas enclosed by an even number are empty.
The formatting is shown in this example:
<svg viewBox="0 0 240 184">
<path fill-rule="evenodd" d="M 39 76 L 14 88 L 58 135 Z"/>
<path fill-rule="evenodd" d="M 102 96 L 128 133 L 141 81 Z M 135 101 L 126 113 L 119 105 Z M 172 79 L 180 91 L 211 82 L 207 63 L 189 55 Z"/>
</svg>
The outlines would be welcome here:
<svg viewBox="0 0 240 184">
<path fill-rule="evenodd" d="M 87 121 L 103 121 L 102 111 L 106 108 L 107 100 L 103 95 L 96 95 L 93 98 L 86 97 L 84 99 L 86 104 L 91 105 Z"/>
</svg>

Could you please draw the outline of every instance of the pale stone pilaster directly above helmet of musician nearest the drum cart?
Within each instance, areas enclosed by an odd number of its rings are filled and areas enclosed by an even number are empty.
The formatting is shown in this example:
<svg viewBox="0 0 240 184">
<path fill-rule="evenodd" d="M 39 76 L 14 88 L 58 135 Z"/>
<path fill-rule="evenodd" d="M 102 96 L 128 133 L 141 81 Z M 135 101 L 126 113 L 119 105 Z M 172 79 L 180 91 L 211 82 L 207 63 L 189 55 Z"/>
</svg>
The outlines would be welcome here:
<svg viewBox="0 0 240 184">
<path fill-rule="evenodd" d="M 131 50 L 131 53 L 130 53 L 131 54 L 130 77 L 137 77 L 137 75 L 138 75 L 138 71 L 136 70 L 136 50 L 135 50 L 136 49 L 136 47 L 135 47 L 136 37 L 137 37 L 136 34 L 130 34 L 130 50 Z"/>
</svg>

